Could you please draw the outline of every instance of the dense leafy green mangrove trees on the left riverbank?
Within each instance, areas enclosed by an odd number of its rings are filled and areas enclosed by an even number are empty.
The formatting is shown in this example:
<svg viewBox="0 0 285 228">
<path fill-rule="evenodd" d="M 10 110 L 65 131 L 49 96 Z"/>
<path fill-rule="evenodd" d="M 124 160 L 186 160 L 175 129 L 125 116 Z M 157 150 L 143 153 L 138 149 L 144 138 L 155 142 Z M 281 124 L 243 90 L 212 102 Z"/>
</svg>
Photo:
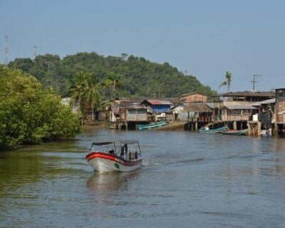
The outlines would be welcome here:
<svg viewBox="0 0 285 228">
<path fill-rule="evenodd" d="M 78 115 L 35 77 L 0 66 L 0 150 L 73 138 Z"/>
</svg>

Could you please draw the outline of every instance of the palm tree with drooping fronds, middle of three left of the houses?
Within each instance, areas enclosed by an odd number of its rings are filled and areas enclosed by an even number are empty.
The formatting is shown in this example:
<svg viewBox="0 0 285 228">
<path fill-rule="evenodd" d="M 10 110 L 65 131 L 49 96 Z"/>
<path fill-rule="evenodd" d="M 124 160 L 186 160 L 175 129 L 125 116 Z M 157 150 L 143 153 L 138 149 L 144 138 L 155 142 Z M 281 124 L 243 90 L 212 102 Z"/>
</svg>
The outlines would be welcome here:
<svg viewBox="0 0 285 228">
<path fill-rule="evenodd" d="M 92 120 L 94 120 L 94 107 L 99 106 L 102 96 L 99 93 L 99 80 L 95 74 L 89 75 L 86 78 L 86 88 L 83 91 L 83 98 L 92 109 Z"/>
</svg>

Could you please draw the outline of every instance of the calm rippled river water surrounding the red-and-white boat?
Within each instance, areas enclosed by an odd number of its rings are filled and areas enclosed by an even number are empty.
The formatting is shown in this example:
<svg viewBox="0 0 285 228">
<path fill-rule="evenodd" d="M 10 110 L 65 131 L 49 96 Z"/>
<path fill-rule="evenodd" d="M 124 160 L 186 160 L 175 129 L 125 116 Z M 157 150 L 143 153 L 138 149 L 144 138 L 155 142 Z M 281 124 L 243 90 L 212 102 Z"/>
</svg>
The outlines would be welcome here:
<svg viewBox="0 0 285 228">
<path fill-rule="evenodd" d="M 99 174 L 91 142 L 140 140 L 143 165 Z M 284 227 L 285 138 L 88 128 L 0 152 L 0 227 Z"/>
</svg>

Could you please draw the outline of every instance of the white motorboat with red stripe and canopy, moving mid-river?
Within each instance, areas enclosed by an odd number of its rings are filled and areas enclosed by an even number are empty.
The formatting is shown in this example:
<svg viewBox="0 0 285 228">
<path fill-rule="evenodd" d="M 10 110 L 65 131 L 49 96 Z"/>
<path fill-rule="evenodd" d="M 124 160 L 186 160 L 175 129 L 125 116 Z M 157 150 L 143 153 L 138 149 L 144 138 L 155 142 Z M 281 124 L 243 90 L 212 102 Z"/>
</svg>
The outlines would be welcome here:
<svg viewBox="0 0 285 228">
<path fill-rule="evenodd" d="M 138 140 L 125 140 L 117 150 L 116 142 L 93 142 L 86 155 L 96 172 L 130 172 L 142 165 Z"/>
</svg>

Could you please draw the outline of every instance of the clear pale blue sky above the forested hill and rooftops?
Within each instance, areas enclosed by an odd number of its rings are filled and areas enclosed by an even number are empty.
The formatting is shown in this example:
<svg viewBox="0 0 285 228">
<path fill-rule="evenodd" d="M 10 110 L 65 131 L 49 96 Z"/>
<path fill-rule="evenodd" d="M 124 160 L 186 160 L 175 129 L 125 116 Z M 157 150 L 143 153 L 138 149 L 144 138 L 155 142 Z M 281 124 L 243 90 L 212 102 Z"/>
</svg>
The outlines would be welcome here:
<svg viewBox="0 0 285 228">
<path fill-rule="evenodd" d="M 0 0 L 0 63 L 95 51 L 170 63 L 219 93 L 285 88 L 285 1 Z"/>
</svg>

